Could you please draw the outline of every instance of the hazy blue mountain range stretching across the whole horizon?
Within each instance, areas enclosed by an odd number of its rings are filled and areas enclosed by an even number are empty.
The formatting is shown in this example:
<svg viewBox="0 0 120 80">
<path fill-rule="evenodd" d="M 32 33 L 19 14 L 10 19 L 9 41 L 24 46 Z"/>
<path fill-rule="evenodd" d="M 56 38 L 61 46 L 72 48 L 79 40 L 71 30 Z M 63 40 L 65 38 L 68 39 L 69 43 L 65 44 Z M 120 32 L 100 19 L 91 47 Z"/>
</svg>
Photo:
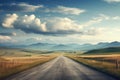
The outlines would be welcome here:
<svg viewBox="0 0 120 80">
<path fill-rule="evenodd" d="M 48 50 L 48 51 L 88 51 L 100 48 L 120 47 L 120 42 L 100 42 L 98 44 L 50 44 L 50 43 L 35 43 L 30 45 L 4 45 L 0 44 L 0 47 L 9 48 L 25 48 L 33 50 Z"/>
</svg>

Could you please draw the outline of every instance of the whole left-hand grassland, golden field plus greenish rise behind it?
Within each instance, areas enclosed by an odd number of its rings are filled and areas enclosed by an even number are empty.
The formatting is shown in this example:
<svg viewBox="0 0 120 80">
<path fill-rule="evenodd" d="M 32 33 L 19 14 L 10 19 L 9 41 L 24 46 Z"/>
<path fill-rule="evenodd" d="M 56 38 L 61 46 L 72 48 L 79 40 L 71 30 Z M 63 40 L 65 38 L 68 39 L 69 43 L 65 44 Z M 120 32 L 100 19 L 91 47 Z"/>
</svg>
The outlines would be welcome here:
<svg viewBox="0 0 120 80">
<path fill-rule="evenodd" d="M 58 56 L 54 53 L 36 54 L 13 49 L 2 49 L 0 51 L 0 79 L 43 64 Z"/>
</svg>

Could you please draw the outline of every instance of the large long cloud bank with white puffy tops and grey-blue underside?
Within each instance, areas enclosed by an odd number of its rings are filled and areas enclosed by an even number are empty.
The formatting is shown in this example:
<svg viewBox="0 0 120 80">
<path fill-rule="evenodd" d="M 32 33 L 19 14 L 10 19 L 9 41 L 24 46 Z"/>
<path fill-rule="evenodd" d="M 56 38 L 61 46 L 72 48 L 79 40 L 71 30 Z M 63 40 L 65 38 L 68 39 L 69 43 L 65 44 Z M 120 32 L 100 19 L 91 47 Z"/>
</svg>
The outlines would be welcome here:
<svg viewBox="0 0 120 80">
<path fill-rule="evenodd" d="M 12 16 L 12 17 L 11 17 Z M 13 20 L 13 16 L 17 16 Z M 9 21 L 10 20 L 10 21 Z M 7 15 L 2 23 L 4 28 L 15 28 L 25 33 L 37 33 L 44 35 L 64 35 L 80 33 L 80 25 L 69 18 L 54 18 L 47 22 L 41 22 L 35 15 L 18 16 L 17 14 Z"/>
</svg>

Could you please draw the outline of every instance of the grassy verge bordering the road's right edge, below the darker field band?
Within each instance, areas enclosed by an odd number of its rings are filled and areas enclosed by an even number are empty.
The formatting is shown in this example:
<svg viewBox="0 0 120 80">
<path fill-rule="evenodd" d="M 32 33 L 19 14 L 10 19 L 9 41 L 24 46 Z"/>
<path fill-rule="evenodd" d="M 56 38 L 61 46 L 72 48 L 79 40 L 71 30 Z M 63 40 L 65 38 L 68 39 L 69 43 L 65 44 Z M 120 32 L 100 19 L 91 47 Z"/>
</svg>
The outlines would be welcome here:
<svg viewBox="0 0 120 80">
<path fill-rule="evenodd" d="M 93 68 L 95 70 L 98 70 L 108 75 L 111 75 L 113 77 L 116 77 L 117 79 L 120 79 L 120 67 L 116 69 L 115 63 L 106 62 L 106 61 L 98 61 L 96 59 L 86 59 L 78 55 L 66 55 L 66 57 L 71 58 L 74 61 L 77 61 L 90 68 Z"/>
</svg>

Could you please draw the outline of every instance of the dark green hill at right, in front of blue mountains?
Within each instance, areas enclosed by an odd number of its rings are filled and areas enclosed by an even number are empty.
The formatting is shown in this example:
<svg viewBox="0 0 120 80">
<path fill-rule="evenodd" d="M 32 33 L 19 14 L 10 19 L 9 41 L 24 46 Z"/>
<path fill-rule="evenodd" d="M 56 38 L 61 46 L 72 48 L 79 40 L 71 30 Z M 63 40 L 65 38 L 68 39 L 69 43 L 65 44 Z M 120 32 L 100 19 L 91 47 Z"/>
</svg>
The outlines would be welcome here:
<svg viewBox="0 0 120 80">
<path fill-rule="evenodd" d="M 103 54 L 103 53 L 114 53 L 120 52 L 120 47 L 109 47 L 104 49 L 95 49 L 85 52 L 84 54 Z"/>
</svg>

